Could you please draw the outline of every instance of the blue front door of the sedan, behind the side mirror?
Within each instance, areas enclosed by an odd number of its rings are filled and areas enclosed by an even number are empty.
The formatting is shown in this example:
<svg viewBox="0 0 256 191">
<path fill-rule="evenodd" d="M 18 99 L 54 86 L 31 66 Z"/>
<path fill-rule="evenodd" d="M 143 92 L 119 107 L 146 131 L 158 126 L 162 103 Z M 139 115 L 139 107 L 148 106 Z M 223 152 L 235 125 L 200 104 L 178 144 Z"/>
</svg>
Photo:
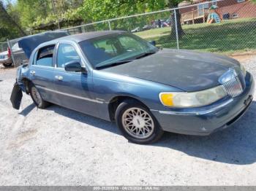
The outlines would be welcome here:
<svg viewBox="0 0 256 191">
<path fill-rule="evenodd" d="M 70 61 L 83 62 L 83 55 L 76 50 L 75 44 L 60 43 L 56 50 L 55 89 L 58 104 L 78 112 L 97 115 L 99 101 L 91 97 L 93 82 L 88 72 L 70 72 L 64 70 L 64 64 Z"/>
</svg>

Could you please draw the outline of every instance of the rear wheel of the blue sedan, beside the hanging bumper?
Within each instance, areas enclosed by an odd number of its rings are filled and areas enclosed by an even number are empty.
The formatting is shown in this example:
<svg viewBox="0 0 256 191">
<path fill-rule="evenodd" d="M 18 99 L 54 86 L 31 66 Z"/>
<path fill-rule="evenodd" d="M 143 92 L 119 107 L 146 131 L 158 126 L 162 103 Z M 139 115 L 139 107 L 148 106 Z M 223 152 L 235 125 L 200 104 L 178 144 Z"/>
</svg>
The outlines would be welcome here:
<svg viewBox="0 0 256 191">
<path fill-rule="evenodd" d="M 29 84 L 29 93 L 34 101 L 34 104 L 39 108 L 39 109 L 45 109 L 47 106 L 50 105 L 49 102 L 44 101 L 42 99 L 42 96 L 40 95 L 39 91 L 37 90 L 37 87 L 34 86 L 34 84 L 30 83 Z"/>
</svg>

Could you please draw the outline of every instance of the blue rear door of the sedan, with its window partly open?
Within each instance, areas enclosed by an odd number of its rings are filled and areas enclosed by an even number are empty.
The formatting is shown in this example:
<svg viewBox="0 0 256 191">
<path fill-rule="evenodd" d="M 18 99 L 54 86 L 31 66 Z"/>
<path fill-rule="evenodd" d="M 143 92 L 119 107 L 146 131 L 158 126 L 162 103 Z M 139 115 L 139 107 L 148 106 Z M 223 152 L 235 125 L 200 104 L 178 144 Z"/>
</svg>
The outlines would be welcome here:
<svg viewBox="0 0 256 191">
<path fill-rule="evenodd" d="M 56 103 L 54 91 L 53 52 L 55 44 L 40 48 L 30 66 L 30 79 L 45 101 Z"/>
</svg>

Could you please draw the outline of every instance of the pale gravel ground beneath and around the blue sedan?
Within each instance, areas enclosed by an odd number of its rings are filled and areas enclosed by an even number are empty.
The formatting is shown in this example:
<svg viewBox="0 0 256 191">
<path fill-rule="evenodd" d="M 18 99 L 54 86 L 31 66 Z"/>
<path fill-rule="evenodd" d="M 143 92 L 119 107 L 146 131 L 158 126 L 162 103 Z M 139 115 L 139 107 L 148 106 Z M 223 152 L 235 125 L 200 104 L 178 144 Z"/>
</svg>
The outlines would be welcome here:
<svg viewBox="0 0 256 191">
<path fill-rule="evenodd" d="M 238 57 L 256 78 L 256 56 Z M 110 122 L 61 106 L 21 109 L 9 98 L 15 69 L 0 69 L 0 185 L 256 185 L 256 100 L 211 136 L 165 133 L 132 144 Z"/>
</svg>

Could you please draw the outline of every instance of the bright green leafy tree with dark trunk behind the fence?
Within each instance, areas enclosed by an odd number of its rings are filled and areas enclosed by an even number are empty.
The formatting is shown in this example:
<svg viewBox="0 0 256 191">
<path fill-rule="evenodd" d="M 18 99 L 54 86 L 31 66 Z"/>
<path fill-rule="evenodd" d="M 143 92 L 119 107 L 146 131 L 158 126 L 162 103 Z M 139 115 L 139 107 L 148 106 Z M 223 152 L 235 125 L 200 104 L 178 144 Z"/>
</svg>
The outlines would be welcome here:
<svg viewBox="0 0 256 191">
<path fill-rule="evenodd" d="M 166 7 L 172 9 L 184 0 L 86 0 L 80 9 L 80 15 L 87 21 L 107 20 L 115 17 L 151 12 Z M 192 1 L 192 0 L 188 0 Z M 182 37 L 184 31 L 181 27 L 181 14 L 176 10 L 178 36 Z M 176 37 L 175 15 L 171 12 L 172 27 L 170 35 Z M 126 24 L 127 25 L 127 24 Z"/>
</svg>

